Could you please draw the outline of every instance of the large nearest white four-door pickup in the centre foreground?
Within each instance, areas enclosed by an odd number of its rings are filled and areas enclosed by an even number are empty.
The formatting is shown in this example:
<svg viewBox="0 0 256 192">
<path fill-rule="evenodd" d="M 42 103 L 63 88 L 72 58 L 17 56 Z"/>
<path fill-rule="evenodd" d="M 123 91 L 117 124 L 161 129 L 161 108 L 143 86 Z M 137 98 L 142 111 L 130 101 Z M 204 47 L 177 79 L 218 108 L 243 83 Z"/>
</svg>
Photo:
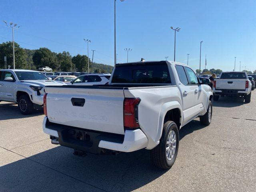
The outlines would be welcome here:
<svg viewBox="0 0 256 192">
<path fill-rule="evenodd" d="M 156 166 L 168 169 L 178 153 L 178 130 L 198 116 L 211 122 L 208 83 L 177 62 L 116 64 L 108 85 L 46 86 L 43 131 L 78 155 L 146 148 Z"/>
</svg>

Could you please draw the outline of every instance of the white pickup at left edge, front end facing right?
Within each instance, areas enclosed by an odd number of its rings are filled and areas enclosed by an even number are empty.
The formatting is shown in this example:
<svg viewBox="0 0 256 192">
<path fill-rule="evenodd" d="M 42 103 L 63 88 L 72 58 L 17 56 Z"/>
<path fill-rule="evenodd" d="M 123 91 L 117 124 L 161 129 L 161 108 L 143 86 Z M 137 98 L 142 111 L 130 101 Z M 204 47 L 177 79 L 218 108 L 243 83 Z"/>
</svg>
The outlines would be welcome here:
<svg viewBox="0 0 256 192">
<path fill-rule="evenodd" d="M 46 85 L 65 83 L 49 80 L 38 71 L 0 70 L 0 101 L 16 102 L 22 114 L 30 114 L 33 109 L 42 109 Z"/>
</svg>

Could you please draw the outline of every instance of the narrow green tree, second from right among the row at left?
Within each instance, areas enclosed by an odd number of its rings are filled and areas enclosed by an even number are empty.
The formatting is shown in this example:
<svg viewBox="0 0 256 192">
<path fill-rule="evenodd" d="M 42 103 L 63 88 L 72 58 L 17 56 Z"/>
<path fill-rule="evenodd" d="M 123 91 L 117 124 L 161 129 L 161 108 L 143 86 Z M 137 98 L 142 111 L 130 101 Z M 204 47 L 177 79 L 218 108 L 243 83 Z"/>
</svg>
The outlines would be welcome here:
<svg viewBox="0 0 256 192">
<path fill-rule="evenodd" d="M 71 71 L 74 66 L 72 65 L 72 56 L 69 52 L 62 52 L 57 54 L 58 70 L 60 71 Z"/>
</svg>

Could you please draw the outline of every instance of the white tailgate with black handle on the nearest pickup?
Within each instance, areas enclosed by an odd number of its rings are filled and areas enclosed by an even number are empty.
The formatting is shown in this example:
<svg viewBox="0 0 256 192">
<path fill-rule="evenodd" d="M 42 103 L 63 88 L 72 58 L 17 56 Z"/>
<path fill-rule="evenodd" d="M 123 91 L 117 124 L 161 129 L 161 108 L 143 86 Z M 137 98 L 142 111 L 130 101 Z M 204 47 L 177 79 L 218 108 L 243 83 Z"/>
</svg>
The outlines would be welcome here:
<svg viewBox="0 0 256 192">
<path fill-rule="evenodd" d="M 88 130 L 124 134 L 123 89 L 79 87 L 45 88 L 49 121 Z"/>
</svg>

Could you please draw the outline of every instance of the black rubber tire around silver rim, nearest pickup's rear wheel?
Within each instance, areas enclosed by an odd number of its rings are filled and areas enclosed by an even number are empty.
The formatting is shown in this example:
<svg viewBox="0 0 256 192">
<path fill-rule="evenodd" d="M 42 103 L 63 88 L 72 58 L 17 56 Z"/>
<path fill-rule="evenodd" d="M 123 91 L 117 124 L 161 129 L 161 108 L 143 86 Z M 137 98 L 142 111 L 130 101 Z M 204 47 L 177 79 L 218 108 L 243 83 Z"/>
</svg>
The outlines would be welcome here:
<svg viewBox="0 0 256 192">
<path fill-rule="evenodd" d="M 166 154 L 166 146 L 167 139 L 171 131 L 174 131 L 176 134 L 176 148 L 172 158 L 170 160 L 167 158 Z M 172 146 L 172 144 L 171 144 Z M 170 169 L 174 164 L 179 149 L 179 130 L 175 122 L 167 121 L 164 123 L 162 136 L 160 139 L 160 143 L 154 149 L 150 150 L 150 158 L 154 165 L 161 169 Z"/>
</svg>

